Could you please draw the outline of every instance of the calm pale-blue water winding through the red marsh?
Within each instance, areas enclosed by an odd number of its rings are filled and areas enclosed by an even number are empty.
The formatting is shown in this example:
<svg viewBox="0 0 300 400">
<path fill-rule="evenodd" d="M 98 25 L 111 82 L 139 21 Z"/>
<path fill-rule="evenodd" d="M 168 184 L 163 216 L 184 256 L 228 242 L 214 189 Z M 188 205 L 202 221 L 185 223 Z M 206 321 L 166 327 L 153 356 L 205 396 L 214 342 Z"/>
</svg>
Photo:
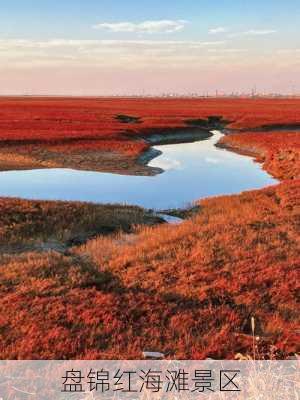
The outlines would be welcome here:
<svg viewBox="0 0 300 400">
<path fill-rule="evenodd" d="M 149 165 L 165 172 L 126 176 L 71 169 L 0 173 L 0 196 L 127 203 L 147 208 L 183 207 L 194 200 L 258 189 L 277 181 L 251 157 L 215 147 L 221 134 L 199 142 L 156 146 Z"/>
</svg>

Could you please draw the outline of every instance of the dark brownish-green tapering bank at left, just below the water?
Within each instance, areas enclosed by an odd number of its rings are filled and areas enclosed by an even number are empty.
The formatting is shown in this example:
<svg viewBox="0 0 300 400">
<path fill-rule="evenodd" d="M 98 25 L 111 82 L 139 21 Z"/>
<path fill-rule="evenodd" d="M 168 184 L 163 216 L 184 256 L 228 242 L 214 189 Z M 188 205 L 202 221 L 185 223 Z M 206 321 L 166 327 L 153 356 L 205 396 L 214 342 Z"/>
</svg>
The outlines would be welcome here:
<svg viewBox="0 0 300 400">
<path fill-rule="evenodd" d="M 130 234 L 138 225 L 165 223 L 152 210 L 118 204 L 0 198 L 0 208 L 0 256 L 29 251 L 64 253 L 97 236 Z"/>
</svg>

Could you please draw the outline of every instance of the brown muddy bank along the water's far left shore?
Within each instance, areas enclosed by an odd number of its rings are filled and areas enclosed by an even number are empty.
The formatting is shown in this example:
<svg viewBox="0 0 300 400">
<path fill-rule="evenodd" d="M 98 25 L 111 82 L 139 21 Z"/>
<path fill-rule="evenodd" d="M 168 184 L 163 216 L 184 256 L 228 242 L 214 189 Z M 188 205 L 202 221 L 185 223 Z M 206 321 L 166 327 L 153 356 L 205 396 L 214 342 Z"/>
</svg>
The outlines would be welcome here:
<svg viewBox="0 0 300 400">
<path fill-rule="evenodd" d="M 143 143 L 143 147 L 146 147 L 146 151 L 138 156 L 97 148 L 80 148 L 80 141 L 78 141 L 79 147 L 71 151 L 67 145 L 64 151 L 64 146 L 58 149 L 56 146 L 10 144 L 0 147 L 0 171 L 71 168 L 123 175 L 153 176 L 162 173 L 163 170 L 148 166 L 151 160 L 161 154 L 151 146 L 188 143 L 204 140 L 210 136 L 212 134 L 209 131 L 195 127 L 157 129 L 144 134 L 135 134 L 134 137 L 128 135 L 133 143 L 140 142 Z M 101 144 L 100 140 L 94 140 L 94 142 L 95 147 Z"/>
</svg>

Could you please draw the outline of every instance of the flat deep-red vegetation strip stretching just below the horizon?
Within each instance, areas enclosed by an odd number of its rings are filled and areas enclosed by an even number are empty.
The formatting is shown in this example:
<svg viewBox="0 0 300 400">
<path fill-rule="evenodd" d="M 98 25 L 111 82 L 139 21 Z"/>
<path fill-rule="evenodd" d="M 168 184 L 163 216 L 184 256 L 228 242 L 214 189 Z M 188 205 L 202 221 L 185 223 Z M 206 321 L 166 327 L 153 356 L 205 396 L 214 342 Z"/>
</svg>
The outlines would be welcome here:
<svg viewBox="0 0 300 400">
<path fill-rule="evenodd" d="M 300 124 L 299 108 L 299 99 L 1 98 L 0 141 L 120 139 L 126 131 L 135 135 L 212 115 L 232 121 L 232 128 Z M 118 114 L 141 122 L 124 124 Z"/>
</svg>

